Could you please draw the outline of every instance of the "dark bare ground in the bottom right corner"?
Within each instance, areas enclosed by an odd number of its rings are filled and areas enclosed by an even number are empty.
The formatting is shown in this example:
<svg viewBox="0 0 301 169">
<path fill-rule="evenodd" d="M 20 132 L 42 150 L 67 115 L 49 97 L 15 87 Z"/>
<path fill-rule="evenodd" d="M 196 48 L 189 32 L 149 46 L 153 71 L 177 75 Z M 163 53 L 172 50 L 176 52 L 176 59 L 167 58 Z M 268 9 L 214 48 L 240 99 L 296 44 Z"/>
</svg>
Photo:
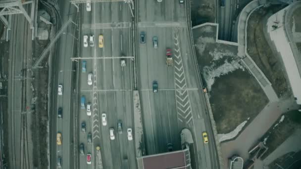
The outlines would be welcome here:
<svg viewBox="0 0 301 169">
<path fill-rule="evenodd" d="M 269 165 L 270 169 L 301 169 L 301 151 L 279 157 Z"/>
</svg>

